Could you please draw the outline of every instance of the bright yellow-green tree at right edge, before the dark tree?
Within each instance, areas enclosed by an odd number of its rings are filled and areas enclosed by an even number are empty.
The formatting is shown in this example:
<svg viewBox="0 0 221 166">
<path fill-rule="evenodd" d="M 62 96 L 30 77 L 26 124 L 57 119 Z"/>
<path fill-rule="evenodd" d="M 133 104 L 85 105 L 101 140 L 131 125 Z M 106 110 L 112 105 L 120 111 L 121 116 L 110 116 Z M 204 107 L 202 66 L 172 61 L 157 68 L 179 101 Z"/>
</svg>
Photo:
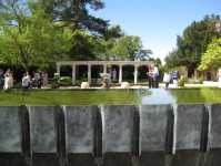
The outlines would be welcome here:
<svg viewBox="0 0 221 166">
<path fill-rule="evenodd" d="M 221 38 L 214 39 L 204 54 L 198 68 L 200 71 L 218 71 L 221 68 Z"/>
</svg>

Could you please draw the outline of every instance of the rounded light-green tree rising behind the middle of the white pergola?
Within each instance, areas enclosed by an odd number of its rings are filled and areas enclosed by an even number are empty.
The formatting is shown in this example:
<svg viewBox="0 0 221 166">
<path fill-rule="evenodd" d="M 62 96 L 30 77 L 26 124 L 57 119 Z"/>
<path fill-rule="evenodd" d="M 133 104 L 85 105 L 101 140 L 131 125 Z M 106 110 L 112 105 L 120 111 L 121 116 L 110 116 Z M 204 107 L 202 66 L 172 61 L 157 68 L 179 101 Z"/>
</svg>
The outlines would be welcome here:
<svg viewBox="0 0 221 166">
<path fill-rule="evenodd" d="M 148 60 L 151 53 L 152 51 L 145 50 L 141 39 L 135 35 L 120 38 L 109 52 L 110 59 L 125 61 Z"/>
</svg>

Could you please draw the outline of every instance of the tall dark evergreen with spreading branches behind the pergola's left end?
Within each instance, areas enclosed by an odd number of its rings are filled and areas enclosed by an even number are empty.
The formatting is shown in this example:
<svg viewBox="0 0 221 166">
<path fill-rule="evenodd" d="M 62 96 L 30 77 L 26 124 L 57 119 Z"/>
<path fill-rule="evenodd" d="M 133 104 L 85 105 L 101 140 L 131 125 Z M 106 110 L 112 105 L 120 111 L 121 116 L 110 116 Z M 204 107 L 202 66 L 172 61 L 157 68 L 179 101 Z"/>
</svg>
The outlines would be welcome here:
<svg viewBox="0 0 221 166">
<path fill-rule="evenodd" d="M 54 21 L 62 22 L 63 27 L 70 28 L 74 33 L 71 41 L 73 45 L 69 52 L 72 60 L 106 59 L 106 55 L 101 53 L 102 49 L 110 49 L 111 41 L 123 35 L 120 25 L 110 27 L 108 20 L 90 14 L 91 10 L 97 11 L 106 7 L 102 0 L 43 1 L 46 2 L 46 12 Z M 82 33 L 82 31 L 87 33 Z M 91 37 L 89 37 L 90 34 Z M 103 43 L 109 43 L 108 48 L 104 48 Z"/>
</svg>

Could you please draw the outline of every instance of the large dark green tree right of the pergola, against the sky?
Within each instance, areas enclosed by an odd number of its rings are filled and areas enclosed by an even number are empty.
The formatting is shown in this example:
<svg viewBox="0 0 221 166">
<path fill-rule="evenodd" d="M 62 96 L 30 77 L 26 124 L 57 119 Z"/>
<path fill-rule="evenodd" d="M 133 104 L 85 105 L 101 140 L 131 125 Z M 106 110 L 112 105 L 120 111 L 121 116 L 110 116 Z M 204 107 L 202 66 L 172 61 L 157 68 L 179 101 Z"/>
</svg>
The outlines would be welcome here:
<svg viewBox="0 0 221 166">
<path fill-rule="evenodd" d="M 201 55 L 205 52 L 208 44 L 220 33 L 215 30 L 212 18 L 208 15 L 195 22 L 183 31 L 183 37 L 178 35 L 177 49 L 165 58 L 167 65 L 188 66 L 194 70 L 200 64 Z"/>
</svg>

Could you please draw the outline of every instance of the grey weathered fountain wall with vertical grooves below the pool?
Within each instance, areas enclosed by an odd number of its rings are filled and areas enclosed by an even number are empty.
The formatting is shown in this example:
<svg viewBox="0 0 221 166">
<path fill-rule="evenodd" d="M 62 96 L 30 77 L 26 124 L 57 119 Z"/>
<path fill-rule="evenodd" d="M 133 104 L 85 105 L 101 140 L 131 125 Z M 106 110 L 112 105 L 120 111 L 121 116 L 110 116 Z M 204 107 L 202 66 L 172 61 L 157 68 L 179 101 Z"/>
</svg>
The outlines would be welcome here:
<svg viewBox="0 0 221 166">
<path fill-rule="evenodd" d="M 0 166 L 219 166 L 221 104 L 0 106 Z"/>
</svg>

